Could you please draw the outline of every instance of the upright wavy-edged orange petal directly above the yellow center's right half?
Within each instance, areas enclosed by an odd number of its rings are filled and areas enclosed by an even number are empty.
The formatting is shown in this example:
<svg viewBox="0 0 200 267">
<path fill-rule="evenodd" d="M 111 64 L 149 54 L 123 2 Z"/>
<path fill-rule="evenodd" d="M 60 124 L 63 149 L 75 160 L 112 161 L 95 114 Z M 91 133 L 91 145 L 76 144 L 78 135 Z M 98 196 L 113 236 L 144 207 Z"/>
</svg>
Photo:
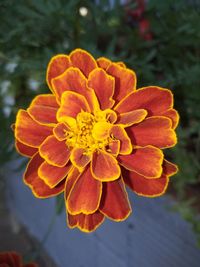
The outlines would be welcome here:
<svg viewBox="0 0 200 267">
<path fill-rule="evenodd" d="M 99 100 L 101 110 L 111 108 L 115 101 L 112 99 L 114 94 L 115 80 L 103 69 L 94 69 L 88 77 L 88 86 L 94 89 Z"/>
</svg>

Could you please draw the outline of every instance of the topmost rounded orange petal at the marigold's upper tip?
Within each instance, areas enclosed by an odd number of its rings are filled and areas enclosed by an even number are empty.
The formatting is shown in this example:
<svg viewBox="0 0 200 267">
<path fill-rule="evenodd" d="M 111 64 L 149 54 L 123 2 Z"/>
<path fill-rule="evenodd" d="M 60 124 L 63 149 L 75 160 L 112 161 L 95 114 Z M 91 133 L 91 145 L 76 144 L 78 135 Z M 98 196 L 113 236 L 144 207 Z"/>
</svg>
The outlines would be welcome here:
<svg viewBox="0 0 200 267">
<path fill-rule="evenodd" d="M 69 57 L 73 66 L 79 68 L 86 77 L 93 69 L 97 68 L 95 59 L 85 50 L 76 49 Z"/>
</svg>

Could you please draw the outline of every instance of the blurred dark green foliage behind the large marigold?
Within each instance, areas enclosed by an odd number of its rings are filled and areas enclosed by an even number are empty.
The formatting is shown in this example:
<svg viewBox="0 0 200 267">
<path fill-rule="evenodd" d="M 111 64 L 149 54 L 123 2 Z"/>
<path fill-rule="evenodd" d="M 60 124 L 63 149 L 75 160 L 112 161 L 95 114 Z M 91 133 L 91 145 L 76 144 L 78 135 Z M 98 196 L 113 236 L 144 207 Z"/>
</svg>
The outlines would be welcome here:
<svg viewBox="0 0 200 267">
<path fill-rule="evenodd" d="M 86 16 L 81 7 L 87 8 Z M 147 1 L 143 16 L 150 22 L 149 40 L 128 12 L 135 9 L 135 1 L 125 6 L 115 1 L 110 8 L 106 0 L 98 5 L 84 0 L 1 0 L 0 162 L 16 156 L 10 125 L 18 108 L 48 90 L 45 70 L 51 56 L 81 47 L 95 57 L 124 61 L 136 71 L 138 87 L 160 85 L 175 95 L 179 144 L 167 154 L 180 168 L 172 178 L 177 210 L 189 218 L 200 240 L 200 222 L 190 199 L 186 201 L 188 188 L 200 192 L 200 5 L 192 0 Z"/>
</svg>

